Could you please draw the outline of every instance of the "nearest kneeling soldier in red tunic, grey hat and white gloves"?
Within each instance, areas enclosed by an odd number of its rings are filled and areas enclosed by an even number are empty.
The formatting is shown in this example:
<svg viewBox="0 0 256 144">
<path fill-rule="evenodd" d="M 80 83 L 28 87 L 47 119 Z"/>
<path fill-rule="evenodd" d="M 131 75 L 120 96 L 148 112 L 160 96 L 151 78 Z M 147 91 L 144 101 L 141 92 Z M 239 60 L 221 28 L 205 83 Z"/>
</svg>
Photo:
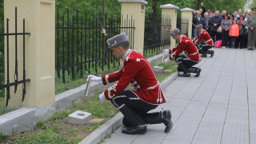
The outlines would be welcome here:
<svg viewBox="0 0 256 144">
<path fill-rule="evenodd" d="M 150 63 L 138 52 L 130 50 L 126 33 L 118 34 L 107 40 L 114 56 L 122 59 L 123 67 L 118 72 L 102 77 L 90 75 L 92 81 L 102 81 L 104 85 L 116 82 L 114 86 L 99 95 L 110 100 L 124 115 L 122 123 L 126 128 L 124 134 L 144 134 L 146 124 L 163 123 L 168 133 L 173 126 L 170 110 L 148 113 L 166 100 L 162 94 Z M 134 90 L 125 90 L 129 83 Z"/>
</svg>

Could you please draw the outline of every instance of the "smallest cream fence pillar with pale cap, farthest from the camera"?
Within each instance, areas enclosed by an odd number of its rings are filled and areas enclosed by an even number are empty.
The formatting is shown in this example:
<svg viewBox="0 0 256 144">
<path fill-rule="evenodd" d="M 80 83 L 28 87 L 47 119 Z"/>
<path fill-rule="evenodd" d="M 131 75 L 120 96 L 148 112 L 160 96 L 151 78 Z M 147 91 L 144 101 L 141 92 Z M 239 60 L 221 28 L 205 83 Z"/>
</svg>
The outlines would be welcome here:
<svg viewBox="0 0 256 144">
<path fill-rule="evenodd" d="M 192 21 L 193 21 L 193 10 L 186 7 L 184 9 L 181 10 L 182 11 L 182 18 L 183 19 L 187 19 L 188 20 L 188 37 L 192 38 Z"/>
</svg>

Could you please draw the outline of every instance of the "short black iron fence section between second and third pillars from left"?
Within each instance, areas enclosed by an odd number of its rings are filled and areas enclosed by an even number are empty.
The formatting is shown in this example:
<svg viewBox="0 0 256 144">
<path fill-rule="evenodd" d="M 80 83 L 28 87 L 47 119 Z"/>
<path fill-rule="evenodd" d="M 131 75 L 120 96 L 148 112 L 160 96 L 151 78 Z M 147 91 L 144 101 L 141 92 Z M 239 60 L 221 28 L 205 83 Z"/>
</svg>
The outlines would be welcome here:
<svg viewBox="0 0 256 144">
<path fill-rule="evenodd" d="M 160 52 L 170 46 L 170 16 L 159 15 L 157 18 L 146 17 L 144 55 Z"/>
</svg>

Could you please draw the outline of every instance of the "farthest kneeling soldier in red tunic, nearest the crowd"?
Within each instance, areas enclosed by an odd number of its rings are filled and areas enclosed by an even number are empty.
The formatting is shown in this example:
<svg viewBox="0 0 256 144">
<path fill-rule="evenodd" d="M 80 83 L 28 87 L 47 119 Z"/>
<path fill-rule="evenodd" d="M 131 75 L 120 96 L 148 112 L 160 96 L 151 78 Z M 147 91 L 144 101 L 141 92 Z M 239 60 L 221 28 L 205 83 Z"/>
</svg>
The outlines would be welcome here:
<svg viewBox="0 0 256 144">
<path fill-rule="evenodd" d="M 193 39 L 193 42 L 198 46 L 199 53 L 202 54 L 202 58 L 206 58 L 207 54 L 210 54 L 210 58 L 214 56 L 214 50 L 209 50 L 214 47 L 214 41 L 210 37 L 210 34 L 204 29 L 202 29 L 202 24 L 196 26 L 199 35 Z M 199 43 L 200 42 L 200 43 Z"/>
</svg>

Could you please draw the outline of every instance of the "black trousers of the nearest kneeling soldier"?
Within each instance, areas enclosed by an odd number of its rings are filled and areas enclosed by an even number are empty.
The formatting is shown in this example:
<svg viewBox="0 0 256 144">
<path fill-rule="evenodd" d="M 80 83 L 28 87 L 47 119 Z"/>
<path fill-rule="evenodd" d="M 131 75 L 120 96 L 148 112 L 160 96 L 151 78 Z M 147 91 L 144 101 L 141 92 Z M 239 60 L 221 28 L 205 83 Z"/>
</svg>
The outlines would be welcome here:
<svg viewBox="0 0 256 144">
<path fill-rule="evenodd" d="M 121 109 L 122 106 L 129 107 L 130 110 L 134 114 L 137 114 L 140 118 L 146 117 L 148 115 L 148 111 L 158 107 L 158 105 L 144 102 L 141 98 L 138 98 L 138 96 L 130 90 L 123 90 L 120 94 L 118 94 L 118 96 L 112 98 L 110 101 L 118 109 Z M 123 124 L 125 126 L 134 126 L 132 122 L 129 122 L 129 118 L 126 118 L 129 117 L 129 115 L 126 115 L 124 113 L 122 114 L 124 115 Z"/>
</svg>

